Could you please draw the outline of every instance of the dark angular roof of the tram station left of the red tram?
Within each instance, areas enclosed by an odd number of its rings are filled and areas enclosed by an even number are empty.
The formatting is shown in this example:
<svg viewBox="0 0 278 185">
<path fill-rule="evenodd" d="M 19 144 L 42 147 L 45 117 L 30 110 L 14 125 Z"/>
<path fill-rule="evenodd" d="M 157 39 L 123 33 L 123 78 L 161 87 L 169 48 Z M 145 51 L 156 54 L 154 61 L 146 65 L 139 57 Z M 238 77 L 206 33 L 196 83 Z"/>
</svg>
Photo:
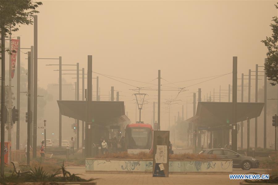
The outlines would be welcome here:
<svg viewBox="0 0 278 185">
<path fill-rule="evenodd" d="M 87 101 L 57 101 L 62 115 L 86 121 Z M 92 122 L 108 124 L 111 120 L 129 121 L 125 116 L 123 101 L 92 101 Z"/>
</svg>

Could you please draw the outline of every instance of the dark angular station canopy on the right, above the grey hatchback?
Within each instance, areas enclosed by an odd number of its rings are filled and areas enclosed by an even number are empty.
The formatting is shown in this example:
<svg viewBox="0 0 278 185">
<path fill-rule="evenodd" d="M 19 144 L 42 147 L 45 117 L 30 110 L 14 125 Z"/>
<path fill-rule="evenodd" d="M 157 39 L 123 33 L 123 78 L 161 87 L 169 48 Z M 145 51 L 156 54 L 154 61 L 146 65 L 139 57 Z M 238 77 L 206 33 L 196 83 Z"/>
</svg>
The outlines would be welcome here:
<svg viewBox="0 0 278 185">
<path fill-rule="evenodd" d="M 237 103 L 237 122 L 259 117 L 264 103 Z M 215 127 L 232 123 L 232 102 L 198 102 L 196 115 L 185 120 L 195 125 Z"/>
</svg>

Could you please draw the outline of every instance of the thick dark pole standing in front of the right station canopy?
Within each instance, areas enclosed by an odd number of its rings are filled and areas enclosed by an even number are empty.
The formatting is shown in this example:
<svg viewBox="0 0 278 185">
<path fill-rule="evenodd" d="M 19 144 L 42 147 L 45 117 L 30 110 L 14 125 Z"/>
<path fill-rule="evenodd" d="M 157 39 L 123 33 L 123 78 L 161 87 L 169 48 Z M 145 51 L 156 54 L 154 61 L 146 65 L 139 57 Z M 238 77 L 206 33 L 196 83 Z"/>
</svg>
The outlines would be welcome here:
<svg viewBox="0 0 278 185">
<path fill-rule="evenodd" d="M 233 57 L 232 150 L 237 151 L 237 68 L 238 57 Z"/>
</svg>

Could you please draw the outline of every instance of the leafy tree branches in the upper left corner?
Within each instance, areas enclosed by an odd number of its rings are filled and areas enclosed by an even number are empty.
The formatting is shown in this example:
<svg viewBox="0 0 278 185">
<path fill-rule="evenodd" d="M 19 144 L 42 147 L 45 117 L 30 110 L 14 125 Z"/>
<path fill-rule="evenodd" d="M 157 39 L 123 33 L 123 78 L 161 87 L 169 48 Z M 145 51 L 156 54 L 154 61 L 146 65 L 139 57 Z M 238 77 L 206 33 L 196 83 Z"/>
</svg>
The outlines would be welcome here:
<svg viewBox="0 0 278 185">
<path fill-rule="evenodd" d="M 33 2 L 32 0 L 0 0 L 1 36 L 8 37 L 10 27 L 11 31 L 18 31 L 18 27 L 21 24 L 32 24 L 32 16 L 39 13 L 39 11 L 35 10 L 39 5 L 42 5 L 42 2 Z M 5 48 L 3 48 L 2 43 L 0 46 L 1 52 Z"/>
</svg>

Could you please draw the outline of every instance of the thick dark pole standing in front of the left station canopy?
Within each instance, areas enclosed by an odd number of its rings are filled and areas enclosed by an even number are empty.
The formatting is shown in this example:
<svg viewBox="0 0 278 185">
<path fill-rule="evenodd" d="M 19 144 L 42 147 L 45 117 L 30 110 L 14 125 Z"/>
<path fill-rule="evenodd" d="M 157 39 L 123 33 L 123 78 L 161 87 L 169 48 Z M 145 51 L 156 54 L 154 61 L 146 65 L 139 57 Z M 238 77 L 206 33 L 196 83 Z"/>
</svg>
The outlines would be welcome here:
<svg viewBox="0 0 278 185">
<path fill-rule="evenodd" d="M 93 56 L 88 55 L 88 72 L 87 72 L 87 121 L 85 129 L 85 151 L 86 157 L 92 156 L 92 120 L 91 120 L 91 106 L 92 106 L 92 68 Z"/>
</svg>

